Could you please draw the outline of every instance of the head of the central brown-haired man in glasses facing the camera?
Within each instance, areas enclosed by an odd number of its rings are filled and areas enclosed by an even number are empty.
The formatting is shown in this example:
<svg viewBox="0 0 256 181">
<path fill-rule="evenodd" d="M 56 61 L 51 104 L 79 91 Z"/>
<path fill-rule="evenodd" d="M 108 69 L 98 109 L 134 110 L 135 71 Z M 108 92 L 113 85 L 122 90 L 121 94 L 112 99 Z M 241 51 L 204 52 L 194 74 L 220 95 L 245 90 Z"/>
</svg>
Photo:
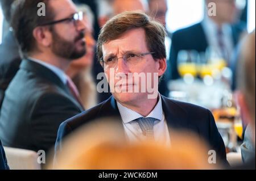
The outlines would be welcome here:
<svg viewBox="0 0 256 181">
<path fill-rule="evenodd" d="M 165 36 L 162 24 L 142 12 L 126 11 L 109 20 L 98 37 L 98 60 L 115 100 L 140 108 L 144 116 L 155 105 L 159 78 L 167 68 Z M 138 74 L 144 81 L 135 78 Z"/>
</svg>

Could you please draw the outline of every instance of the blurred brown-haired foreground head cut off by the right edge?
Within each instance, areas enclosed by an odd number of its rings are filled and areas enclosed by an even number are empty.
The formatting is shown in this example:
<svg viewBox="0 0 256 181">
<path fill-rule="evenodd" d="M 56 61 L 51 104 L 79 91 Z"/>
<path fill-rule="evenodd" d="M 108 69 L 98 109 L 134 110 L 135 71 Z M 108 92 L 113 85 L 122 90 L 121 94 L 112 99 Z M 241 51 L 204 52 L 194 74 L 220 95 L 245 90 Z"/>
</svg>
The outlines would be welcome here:
<svg viewBox="0 0 256 181">
<path fill-rule="evenodd" d="M 245 95 L 251 119 L 255 121 L 255 31 L 243 41 L 237 67 L 238 89 Z"/>
</svg>

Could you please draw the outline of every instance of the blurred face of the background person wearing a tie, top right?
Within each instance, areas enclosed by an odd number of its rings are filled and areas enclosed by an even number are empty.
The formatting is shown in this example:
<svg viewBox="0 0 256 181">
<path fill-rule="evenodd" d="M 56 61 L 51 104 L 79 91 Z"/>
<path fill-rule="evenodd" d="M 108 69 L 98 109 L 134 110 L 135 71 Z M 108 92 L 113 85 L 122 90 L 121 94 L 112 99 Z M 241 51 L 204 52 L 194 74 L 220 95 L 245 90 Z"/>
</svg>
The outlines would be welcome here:
<svg viewBox="0 0 256 181">
<path fill-rule="evenodd" d="M 214 0 L 209 2 L 216 3 L 217 16 L 213 17 L 222 23 L 234 23 L 237 19 L 238 10 L 235 0 Z"/>
</svg>

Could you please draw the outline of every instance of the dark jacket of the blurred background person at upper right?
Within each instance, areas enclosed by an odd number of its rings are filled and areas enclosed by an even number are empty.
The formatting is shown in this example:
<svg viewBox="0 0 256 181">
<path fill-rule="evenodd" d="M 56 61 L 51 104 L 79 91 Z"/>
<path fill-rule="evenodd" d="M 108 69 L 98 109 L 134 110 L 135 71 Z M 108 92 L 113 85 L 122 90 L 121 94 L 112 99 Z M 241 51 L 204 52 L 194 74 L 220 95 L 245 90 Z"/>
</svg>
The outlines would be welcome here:
<svg viewBox="0 0 256 181">
<path fill-rule="evenodd" d="M 244 31 L 245 28 L 242 24 L 232 26 L 234 47 L 238 44 L 241 33 Z M 170 50 L 171 79 L 180 78 L 179 72 L 177 71 L 177 54 L 180 50 L 197 50 L 197 52 L 205 52 L 207 47 L 207 36 L 202 23 L 197 23 L 191 27 L 174 32 Z"/>
</svg>

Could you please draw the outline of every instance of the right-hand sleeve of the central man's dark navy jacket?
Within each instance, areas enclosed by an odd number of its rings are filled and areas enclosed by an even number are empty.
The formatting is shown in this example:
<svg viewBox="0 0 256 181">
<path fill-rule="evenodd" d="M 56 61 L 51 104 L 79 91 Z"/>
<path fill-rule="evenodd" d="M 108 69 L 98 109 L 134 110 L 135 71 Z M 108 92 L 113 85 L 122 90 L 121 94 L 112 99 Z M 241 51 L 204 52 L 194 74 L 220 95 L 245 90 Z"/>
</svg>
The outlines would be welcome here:
<svg viewBox="0 0 256 181">
<path fill-rule="evenodd" d="M 210 148 L 216 151 L 217 158 L 219 158 L 224 165 L 228 165 L 228 161 L 226 160 L 226 149 L 225 149 L 224 141 L 222 140 L 222 137 L 218 132 L 218 128 L 214 121 L 214 117 L 209 110 L 208 110 L 208 119 L 209 119 Z"/>
</svg>

